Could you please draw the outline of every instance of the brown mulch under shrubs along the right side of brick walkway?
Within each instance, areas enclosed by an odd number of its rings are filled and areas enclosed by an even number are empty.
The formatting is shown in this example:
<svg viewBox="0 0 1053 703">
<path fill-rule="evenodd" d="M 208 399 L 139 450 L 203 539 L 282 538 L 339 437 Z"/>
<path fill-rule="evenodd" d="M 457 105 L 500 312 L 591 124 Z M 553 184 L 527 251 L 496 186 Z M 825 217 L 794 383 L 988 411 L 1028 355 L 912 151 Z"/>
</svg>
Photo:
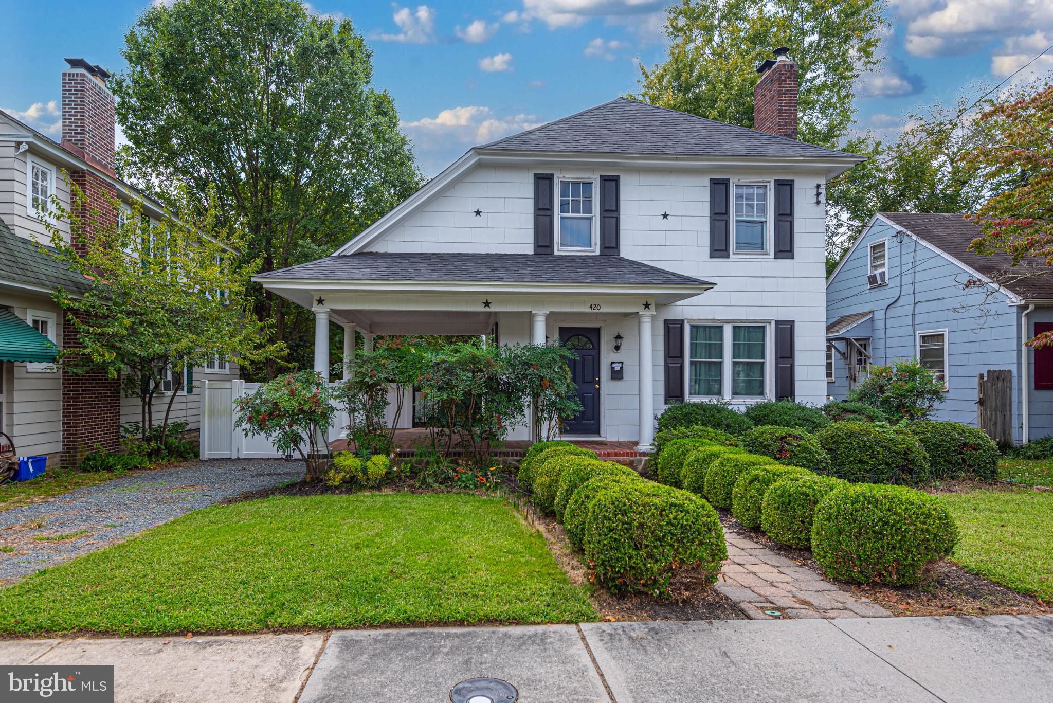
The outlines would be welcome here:
<svg viewBox="0 0 1053 703">
<path fill-rule="evenodd" d="M 980 577 L 969 573 L 950 561 L 931 563 L 917 586 L 860 585 L 835 581 L 822 572 L 822 567 L 806 549 L 784 547 L 760 530 L 746 527 L 730 510 L 718 508 L 720 524 L 743 538 L 763 545 L 780 556 L 815 571 L 840 588 L 869 598 L 896 616 L 1037 616 L 1050 609 L 1031 595 L 1017 593 Z"/>
</svg>

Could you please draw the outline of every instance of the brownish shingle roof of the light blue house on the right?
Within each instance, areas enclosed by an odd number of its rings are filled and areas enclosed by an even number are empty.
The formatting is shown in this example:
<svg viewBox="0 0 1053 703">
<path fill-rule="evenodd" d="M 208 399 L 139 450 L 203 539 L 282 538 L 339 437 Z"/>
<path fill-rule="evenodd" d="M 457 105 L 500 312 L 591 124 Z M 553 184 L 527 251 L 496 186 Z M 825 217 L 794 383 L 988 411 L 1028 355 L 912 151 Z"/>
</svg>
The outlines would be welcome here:
<svg viewBox="0 0 1053 703">
<path fill-rule="evenodd" d="M 878 214 L 988 278 L 996 281 L 1009 281 L 1011 278 L 1007 278 L 1007 276 L 1027 275 L 1026 278 L 1005 285 L 1006 288 L 1026 300 L 1053 299 L 1053 273 L 1050 273 L 1050 269 L 1044 263 L 1039 266 L 1034 260 L 1025 259 L 1018 266 L 1013 267 L 1013 259 L 1009 254 L 998 253 L 992 256 L 980 256 L 969 251 L 969 245 L 980 236 L 980 230 L 973 220 L 965 219 L 961 214 L 916 212 L 882 212 Z"/>
</svg>

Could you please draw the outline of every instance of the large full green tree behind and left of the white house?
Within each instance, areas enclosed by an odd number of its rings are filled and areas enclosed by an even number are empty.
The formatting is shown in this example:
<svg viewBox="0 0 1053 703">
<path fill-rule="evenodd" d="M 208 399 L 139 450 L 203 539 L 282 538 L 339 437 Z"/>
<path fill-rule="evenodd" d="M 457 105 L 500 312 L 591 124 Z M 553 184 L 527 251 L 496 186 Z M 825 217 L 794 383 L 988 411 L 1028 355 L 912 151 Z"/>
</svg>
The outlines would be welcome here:
<svg viewBox="0 0 1053 703">
<path fill-rule="evenodd" d="M 264 271 L 332 253 L 420 184 L 349 19 L 300 0 L 176 0 L 154 3 L 124 39 L 128 67 L 112 83 L 130 142 L 122 175 L 163 202 L 173 183 L 214 187 Z M 251 290 L 271 340 L 305 362 L 310 312 Z M 265 375 L 279 370 L 266 362 Z"/>
</svg>

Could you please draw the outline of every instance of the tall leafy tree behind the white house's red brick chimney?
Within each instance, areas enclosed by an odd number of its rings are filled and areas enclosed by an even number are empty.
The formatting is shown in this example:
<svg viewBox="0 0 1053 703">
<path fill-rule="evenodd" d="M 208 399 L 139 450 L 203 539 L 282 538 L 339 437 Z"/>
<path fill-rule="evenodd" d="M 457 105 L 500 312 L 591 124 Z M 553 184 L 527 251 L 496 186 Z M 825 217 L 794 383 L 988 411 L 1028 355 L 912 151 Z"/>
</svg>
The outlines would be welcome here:
<svg viewBox="0 0 1053 703">
<path fill-rule="evenodd" d="M 799 69 L 799 135 L 836 147 L 859 77 L 880 63 L 885 0 L 681 0 L 667 11 L 664 62 L 641 65 L 639 97 L 753 126 L 757 65 L 789 46 Z"/>
</svg>

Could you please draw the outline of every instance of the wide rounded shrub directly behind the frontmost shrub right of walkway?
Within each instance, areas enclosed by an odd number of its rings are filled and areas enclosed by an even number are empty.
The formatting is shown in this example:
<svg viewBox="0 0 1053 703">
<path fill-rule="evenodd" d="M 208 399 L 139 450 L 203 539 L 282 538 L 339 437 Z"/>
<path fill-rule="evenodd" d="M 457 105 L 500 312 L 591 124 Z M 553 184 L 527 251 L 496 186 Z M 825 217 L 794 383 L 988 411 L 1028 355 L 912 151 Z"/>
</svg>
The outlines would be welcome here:
<svg viewBox="0 0 1053 703">
<path fill-rule="evenodd" d="M 929 477 L 929 454 L 906 429 L 874 423 L 834 423 L 816 436 L 838 479 L 874 484 L 918 483 Z"/>
</svg>

